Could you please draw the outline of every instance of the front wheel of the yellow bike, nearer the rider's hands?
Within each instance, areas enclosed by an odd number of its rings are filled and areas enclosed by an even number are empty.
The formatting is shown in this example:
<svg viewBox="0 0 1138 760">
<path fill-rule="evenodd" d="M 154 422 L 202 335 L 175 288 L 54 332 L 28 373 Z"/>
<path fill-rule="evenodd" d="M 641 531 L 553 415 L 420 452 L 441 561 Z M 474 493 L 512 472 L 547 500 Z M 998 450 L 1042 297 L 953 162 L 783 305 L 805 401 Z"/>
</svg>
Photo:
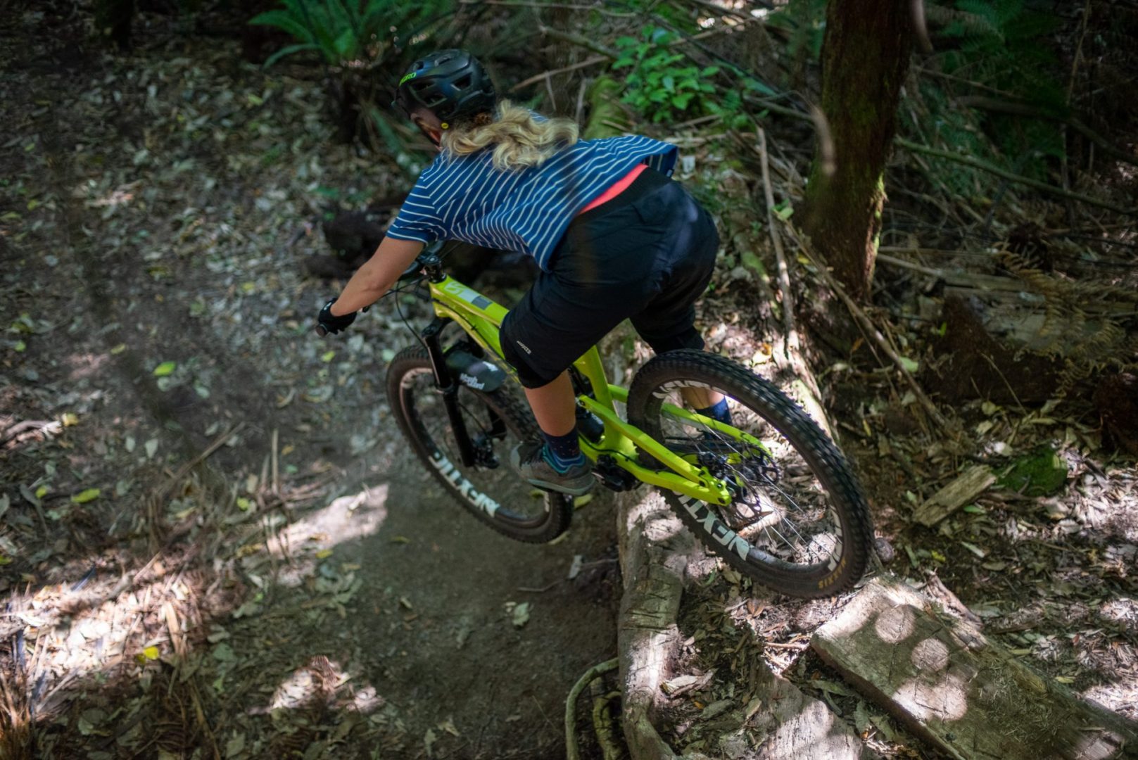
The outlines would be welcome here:
<svg viewBox="0 0 1138 760">
<path fill-rule="evenodd" d="M 518 540 L 545 543 L 560 536 L 572 517 L 572 497 L 536 491 L 510 468 L 510 449 L 537 440 L 529 410 L 504 390 L 483 393 L 460 385 L 460 413 L 475 447 L 462 464 L 443 396 L 424 348 L 405 348 L 387 371 L 387 399 L 403 435 L 435 479 L 468 512 Z"/>
</svg>

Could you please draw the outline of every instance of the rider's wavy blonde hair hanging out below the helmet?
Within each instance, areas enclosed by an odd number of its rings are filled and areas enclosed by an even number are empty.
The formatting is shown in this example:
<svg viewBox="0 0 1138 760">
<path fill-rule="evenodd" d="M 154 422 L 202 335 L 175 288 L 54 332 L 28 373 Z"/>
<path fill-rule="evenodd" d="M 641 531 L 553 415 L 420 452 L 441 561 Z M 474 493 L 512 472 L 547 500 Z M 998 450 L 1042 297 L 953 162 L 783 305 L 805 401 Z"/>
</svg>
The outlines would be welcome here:
<svg viewBox="0 0 1138 760">
<path fill-rule="evenodd" d="M 527 108 L 498 102 L 497 115 L 480 114 L 473 122 L 443 132 L 440 144 L 450 157 L 494 148 L 494 168 L 509 171 L 541 166 L 561 148 L 577 142 L 577 125 L 568 118 L 539 122 Z"/>
</svg>

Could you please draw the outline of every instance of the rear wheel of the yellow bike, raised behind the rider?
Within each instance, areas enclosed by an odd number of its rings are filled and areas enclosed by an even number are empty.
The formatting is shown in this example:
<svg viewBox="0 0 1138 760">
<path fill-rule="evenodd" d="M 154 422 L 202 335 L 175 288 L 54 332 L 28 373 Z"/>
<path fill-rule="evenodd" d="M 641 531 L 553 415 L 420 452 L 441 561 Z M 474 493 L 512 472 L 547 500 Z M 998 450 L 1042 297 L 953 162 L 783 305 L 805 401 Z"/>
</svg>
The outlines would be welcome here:
<svg viewBox="0 0 1138 760">
<path fill-rule="evenodd" d="M 684 413 L 685 399 L 706 400 L 711 391 L 727 398 L 735 430 Z M 803 598 L 838 594 L 865 572 L 873 528 L 849 464 L 814 420 L 762 378 L 715 354 L 662 354 L 633 380 L 628 420 L 727 486 L 727 506 L 663 495 L 731 567 Z"/>
</svg>

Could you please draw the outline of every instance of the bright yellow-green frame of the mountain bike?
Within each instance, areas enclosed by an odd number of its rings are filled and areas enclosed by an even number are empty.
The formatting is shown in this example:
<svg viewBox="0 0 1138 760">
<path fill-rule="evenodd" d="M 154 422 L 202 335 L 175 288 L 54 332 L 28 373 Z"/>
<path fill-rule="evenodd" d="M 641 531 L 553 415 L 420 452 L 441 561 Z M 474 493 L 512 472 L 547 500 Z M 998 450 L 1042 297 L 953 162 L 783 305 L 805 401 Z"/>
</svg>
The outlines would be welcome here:
<svg viewBox="0 0 1138 760">
<path fill-rule="evenodd" d="M 438 282 L 430 282 L 429 287 L 435 314 L 456 322 L 479 346 L 501 360 L 500 366 L 517 380 L 513 367 L 502 360 L 502 342 L 498 334 L 508 309 L 450 275 Z M 595 346 L 574 362 L 574 366 L 588 379 L 593 388 L 593 397 L 583 395 L 577 400 L 604 422 L 604 433 L 596 443 L 582 437 L 580 449 L 585 456 L 595 462 L 599 456 L 609 455 L 618 466 L 643 482 L 692 496 L 701 502 L 731 503 L 731 494 L 724 482 L 712 477 L 707 468 L 668 451 L 646 432 L 620 419 L 615 402 L 627 403 L 628 389 L 609 382 L 601 364 L 601 354 Z M 663 411 L 669 416 L 699 423 L 733 437 L 749 447 L 765 451 L 757 438 L 731 426 L 671 404 L 665 404 Z M 640 452 L 651 455 L 667 469 L 652 470 L 642 466 L 638 462 Z"/>
</svg>

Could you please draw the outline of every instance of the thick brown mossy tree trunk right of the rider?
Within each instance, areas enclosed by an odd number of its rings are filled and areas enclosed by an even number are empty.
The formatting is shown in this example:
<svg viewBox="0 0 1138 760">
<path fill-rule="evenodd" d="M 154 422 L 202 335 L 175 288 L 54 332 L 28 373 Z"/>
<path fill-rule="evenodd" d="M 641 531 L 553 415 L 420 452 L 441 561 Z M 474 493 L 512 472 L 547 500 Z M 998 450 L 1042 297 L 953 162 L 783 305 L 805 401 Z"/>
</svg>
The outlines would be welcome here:
<svg viewBox="0 0 1138 760">
<path fill-rule="evenodd" d="M 816 151 L 805 228 L 857 299 L 868 296 L 873 281 L 885 200 L 883 172 L 912 50 L 906 0 L 830 1 L 822 42 L 822 110 L 833 141 L 833 165 L 827 167 L 823 151 Z"/>
</svg>

